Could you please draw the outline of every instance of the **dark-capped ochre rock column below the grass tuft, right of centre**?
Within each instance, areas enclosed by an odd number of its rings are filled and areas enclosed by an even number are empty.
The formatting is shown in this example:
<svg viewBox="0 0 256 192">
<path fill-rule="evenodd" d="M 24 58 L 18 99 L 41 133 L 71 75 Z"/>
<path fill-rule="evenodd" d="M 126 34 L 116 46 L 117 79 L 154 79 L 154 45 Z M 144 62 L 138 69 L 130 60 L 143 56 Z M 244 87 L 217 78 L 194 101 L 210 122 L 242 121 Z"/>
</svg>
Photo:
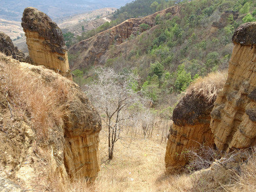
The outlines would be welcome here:
<svg viewBox="0 0 256 192">
<path fill-rule="evenodd" d="M 188 163 L 186 151 L 213 145 L 210 129 L 210 113 L 213 102 L 186 95 L 173 110 L 173 124 L 170 128 L 165 154 L 166 171 L 179 172 Z M 199 109 L 199 110 L 197 110 Z"/>
</svg>

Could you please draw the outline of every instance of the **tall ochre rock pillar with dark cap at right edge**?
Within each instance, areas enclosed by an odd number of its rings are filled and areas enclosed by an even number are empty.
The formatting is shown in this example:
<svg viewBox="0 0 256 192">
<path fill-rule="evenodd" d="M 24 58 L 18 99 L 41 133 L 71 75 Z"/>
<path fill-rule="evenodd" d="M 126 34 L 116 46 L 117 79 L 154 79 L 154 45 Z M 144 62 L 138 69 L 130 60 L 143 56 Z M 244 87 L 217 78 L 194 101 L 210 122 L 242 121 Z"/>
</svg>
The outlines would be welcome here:
<svg viewBox="0 0 256 192">
<path fill-rule="evenodd" d="M 211 113 L 211 130 L 219 150 L 256 145 L 256 22 L 245 23 L 233 36 L 228 78 Z"/>
</svg>

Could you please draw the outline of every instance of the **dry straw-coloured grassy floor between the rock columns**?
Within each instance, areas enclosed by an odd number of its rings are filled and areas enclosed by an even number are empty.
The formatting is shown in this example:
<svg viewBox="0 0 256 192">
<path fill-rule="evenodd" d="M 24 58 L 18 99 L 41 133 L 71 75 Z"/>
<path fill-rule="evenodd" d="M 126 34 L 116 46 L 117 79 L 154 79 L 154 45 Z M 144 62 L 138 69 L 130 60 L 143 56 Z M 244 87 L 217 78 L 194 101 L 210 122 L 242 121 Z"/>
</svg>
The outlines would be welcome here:
<svg viewBox="0 0 256 192">
<path fill-rule="evenodd" d="M 166 141 L 153 132 L 152 137 L 127 137 L 116 142 L 113 160 L 108 160 L 107 131 L 100 132 L 101 171 L 93 191 L 189 191 L 185 175 L 165 174 Z M 172 182 L 173 181 L 173 182 Z M 185 190 L 183 190 L 185 189 Z M 187 190 L 186 190 L 187 189 Z"/>
</svg>

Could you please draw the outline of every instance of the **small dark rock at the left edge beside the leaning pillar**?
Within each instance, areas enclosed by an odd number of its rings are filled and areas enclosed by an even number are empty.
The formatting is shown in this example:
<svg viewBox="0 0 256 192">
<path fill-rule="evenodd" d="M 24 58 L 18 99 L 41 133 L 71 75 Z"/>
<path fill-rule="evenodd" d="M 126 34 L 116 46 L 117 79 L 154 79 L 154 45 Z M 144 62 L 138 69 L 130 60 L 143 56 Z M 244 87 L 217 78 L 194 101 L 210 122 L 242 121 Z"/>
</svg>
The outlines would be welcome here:
<svg viewBox="0 0 256 192">
<path fill-rule="evenodd" d="M 14 46 L 11 38 L 0 31 L 0 52 L 7 56 L 11 56 L 13 59 L 25 62 L 25 54 L 18 50 L 17 46 Z"/>
</svg>

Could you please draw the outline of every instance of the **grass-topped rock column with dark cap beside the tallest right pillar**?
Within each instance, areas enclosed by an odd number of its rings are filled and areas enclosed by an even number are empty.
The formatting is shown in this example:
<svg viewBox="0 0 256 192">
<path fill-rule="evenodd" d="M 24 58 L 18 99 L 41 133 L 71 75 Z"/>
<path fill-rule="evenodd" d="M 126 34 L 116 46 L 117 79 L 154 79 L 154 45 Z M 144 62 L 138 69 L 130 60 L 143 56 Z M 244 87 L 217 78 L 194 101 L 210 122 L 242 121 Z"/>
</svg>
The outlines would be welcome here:
<svg viewBox="0 0 256 192">
<path fill-rule="evenodd" d="M 165 154 L 167 172 L 180 172 L 185 167 L 189 161 L 186 156 L 188 150 L 195 150 L 201 145 L 213 146 L 210 113 L 224 82 L 222 73 L 199 78 L 174 108 Z"/>
</svg>

